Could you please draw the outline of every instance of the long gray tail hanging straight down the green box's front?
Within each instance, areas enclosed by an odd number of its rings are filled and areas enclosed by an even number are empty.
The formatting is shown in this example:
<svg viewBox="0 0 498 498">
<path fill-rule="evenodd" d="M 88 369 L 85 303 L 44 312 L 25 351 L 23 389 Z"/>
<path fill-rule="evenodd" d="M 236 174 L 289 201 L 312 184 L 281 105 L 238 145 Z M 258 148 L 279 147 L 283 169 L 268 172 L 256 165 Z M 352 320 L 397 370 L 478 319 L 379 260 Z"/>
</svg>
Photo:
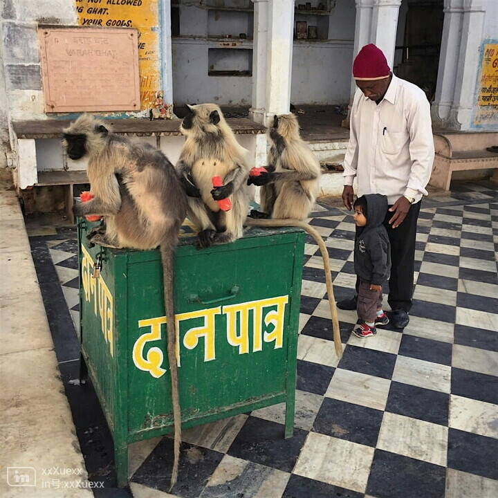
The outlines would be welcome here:
<svg viewBox="0 0 498 498">
<path fill-rule="evenodd" d="M 181 410 L 180 394 L 178 392 L 178 365 L 176 364 L 176 327 L 174 313 L 174 248 L 176 243 L 167 243 L 160 246 L 161 261 L 163 261 L 163 287 L 167 315 L 167 356 L 169 375 L 172 382 L 172 405 L 174 422 L 174 461 L 169 491 L 173 489 L 178 477 L 178 461 L 180 460 L 181 443 Z"/>
</svg>

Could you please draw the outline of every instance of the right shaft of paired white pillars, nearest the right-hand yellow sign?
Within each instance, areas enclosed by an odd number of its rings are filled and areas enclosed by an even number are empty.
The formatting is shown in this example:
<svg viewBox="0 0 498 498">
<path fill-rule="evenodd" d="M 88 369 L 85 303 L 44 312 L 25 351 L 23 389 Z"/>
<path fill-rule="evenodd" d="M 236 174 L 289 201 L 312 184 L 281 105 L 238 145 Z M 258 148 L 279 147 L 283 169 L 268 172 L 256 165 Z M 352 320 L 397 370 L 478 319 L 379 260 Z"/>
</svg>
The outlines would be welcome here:
<svg viewBox="0 0 498 498">
<path fill-rule="evenodd" d="M 467 130 L 472 122 L 474 93 L 479 71 L 479 48 L 483 37 L 484 0 L 463 0 L 461 42 L 453 104 L 447 127 Z"/>
</svg>

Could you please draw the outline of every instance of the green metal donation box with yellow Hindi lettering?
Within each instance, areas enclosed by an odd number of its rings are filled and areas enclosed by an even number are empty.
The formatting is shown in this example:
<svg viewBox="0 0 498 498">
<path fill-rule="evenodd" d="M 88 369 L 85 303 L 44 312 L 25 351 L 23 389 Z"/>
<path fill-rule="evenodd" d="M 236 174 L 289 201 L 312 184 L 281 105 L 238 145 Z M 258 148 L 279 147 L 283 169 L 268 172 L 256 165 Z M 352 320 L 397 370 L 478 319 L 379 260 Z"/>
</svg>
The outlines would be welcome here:
<svg viewBox="0 0 498 498">
<path fill-rule="evenodd" d="M 163 267 L 158 250 L 89 248 L 94 226 L 78 220 L 82 377 L 97 392 L 124 486 L 128 445 L 173 429 Z M 188 225 L 182 232 L 174 275 L 182 427 L 285 402 L 292 436 L 304 232 L 250 228 L 205 250 L 192 245 Z"/>
</svg>

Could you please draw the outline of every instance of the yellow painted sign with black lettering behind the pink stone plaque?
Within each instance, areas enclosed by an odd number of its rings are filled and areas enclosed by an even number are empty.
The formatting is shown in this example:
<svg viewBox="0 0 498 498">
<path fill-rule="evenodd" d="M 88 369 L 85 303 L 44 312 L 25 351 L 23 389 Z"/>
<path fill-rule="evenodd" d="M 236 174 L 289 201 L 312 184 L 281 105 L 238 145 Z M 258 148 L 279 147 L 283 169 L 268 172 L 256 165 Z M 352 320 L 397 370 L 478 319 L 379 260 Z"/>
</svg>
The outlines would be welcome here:
<svg viewBox="0 0 498 498">
<path fill-rule="evenodd" d="M 160 84 L 158 0 L 75 0 L 80 26 L 136 28 L 140 109 L 156 106 Z"/>
</svg>

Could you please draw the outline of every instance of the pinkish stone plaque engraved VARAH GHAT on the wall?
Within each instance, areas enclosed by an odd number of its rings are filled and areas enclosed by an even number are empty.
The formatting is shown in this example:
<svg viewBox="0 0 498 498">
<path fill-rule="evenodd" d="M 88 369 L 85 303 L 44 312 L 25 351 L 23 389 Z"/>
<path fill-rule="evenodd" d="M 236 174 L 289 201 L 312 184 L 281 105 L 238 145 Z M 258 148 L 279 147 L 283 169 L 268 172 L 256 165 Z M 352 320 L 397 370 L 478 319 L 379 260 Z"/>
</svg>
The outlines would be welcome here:
<svg viewBox="0 0 498 498">
<path fill-rule="evenodd" d="M 40 28 L 45 112 L 139 111 L 138 33 Z"/>
</svg>

